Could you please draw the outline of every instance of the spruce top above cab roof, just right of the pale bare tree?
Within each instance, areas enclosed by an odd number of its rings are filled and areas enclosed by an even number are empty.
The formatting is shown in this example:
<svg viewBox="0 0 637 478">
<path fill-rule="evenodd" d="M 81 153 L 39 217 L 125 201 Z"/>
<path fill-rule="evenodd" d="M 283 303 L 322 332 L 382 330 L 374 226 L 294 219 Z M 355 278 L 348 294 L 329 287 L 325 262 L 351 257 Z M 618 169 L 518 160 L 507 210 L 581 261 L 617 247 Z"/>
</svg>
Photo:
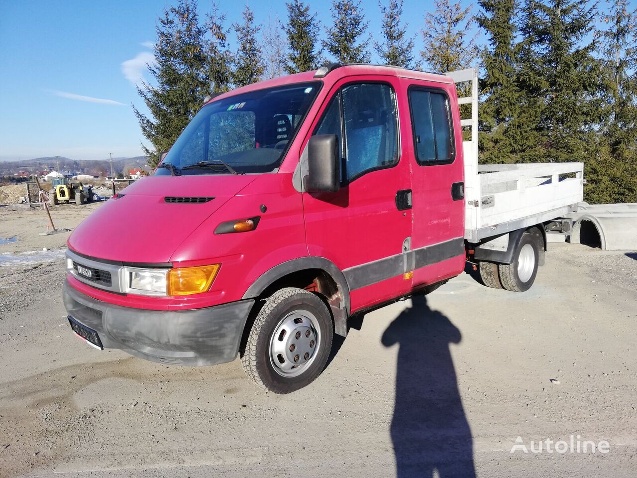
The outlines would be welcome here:
<svg viewBox="0 0 637 478">
<path fill-rule="evenodd" d="M 299 73 L 318 68 L 317 52 L 319 22 L 316 13 L 310 15 L 310 6 L 301 0 L 286 3 L 287 8 L 287 73 Z"/>
</svg>

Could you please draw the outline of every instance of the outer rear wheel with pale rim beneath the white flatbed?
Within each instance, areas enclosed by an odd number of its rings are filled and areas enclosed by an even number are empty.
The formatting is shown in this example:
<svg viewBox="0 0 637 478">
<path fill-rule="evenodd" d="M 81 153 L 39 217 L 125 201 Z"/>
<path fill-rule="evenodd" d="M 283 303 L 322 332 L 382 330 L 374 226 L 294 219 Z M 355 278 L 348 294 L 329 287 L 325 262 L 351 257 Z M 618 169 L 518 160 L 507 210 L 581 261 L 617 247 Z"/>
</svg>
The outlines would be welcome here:
<svg viewBox="0 0 637 478">
<path fill-rule="evenodd" d="M 538 240 L 531 233 L 524 233 L 520 238 L 513 262 L 499 264 L 500 282 L 507 291 L 524 292 L 533 286 L 538 273 L 540 249 Z"/>
</svg>

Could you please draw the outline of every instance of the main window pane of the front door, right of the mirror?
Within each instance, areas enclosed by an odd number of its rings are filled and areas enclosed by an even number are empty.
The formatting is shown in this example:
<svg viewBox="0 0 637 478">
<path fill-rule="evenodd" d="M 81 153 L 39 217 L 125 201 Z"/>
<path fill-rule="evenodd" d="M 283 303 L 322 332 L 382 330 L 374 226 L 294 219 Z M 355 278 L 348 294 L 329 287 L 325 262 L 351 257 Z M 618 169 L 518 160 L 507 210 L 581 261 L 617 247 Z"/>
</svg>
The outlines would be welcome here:
<svg viewBox="0 0 637 478">
<path fill-rule="evenodd" d="M 389 85 L 343 88 L 345 173 L 348 179 L 398 161 L 396 101 Z"/>
</svg>

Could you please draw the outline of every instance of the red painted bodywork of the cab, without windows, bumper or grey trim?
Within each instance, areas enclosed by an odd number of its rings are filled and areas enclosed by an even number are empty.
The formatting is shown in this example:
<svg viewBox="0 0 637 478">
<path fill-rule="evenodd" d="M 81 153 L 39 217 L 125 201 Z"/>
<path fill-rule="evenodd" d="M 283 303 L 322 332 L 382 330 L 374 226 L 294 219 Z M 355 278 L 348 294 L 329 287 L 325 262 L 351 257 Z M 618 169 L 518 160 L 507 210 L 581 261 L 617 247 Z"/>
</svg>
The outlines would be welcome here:
<svg viewBox="0 0 637 478">
<path fill-rule="evenodd" d="M 299 73 L 248 85 L 218 96 L 315 80 Z M 297 192 L 294 170 L 306 142 L 338 88 L 348 82 L 385 82 L 396 92 L 399 115 L 399 162 L 355 179 L 340 191 Z M 97 300 L 150 310 L 203 308 L 241 300 L 248 287 L 278 264 L 306 256 L 331 260 L 340 270 L 401 254 L 411 236 L 412 249 L 462 237 L 464 201 L 451 201 L 450 184 L 463 180 L 462 138 L 455 87 L 448 78 L 378 66 L 343 66 L 322 78 L 310 108 L 278 171 L 261 175 L 184 175 L 143 178 L 110 199 L 73 231 L 70 249 L 85 256 L 131 263 L 196 266 L 220 263 L 210 291 L 176 298 L 119 295 L 69 277 L 78 291 Z M 422 168 L 415 163 L 406 89 L 418 84 L 443 88 L 454 115 L 456 157 L 447 166 Z M 413 190 L 413 208 L 396 208 L 396 191 Z M 203 204 L 173 204 L 165 196 L 209 196 Z M 261 205 L 267 206 L 262 213 Z M 218 224 L 261 216 L 246 233 L 215 235 Z M 464 255 L 362 287 L 351 293 L 352 310 L 396 298 L 413 287 L 453 277 Z"/>
</svg>

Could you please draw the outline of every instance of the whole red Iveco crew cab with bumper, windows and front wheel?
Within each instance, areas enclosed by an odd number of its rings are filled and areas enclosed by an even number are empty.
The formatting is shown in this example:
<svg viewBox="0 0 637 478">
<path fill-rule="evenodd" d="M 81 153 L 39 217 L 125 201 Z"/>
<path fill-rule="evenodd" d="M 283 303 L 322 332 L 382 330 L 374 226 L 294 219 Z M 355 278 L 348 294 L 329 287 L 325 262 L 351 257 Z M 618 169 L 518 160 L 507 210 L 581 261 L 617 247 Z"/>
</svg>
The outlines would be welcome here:
<svg viewBox="0 0 637 478">
<path fill-rule="evenodd" d="M 170 365 L 240 354 L 275 393 L 306 386 L 348 317 L 427 293 L 478 252 L 462 144 L 446 75 L 332 64 L 221 94 L 69 237 L 71 327 Z"/>
</svg>

